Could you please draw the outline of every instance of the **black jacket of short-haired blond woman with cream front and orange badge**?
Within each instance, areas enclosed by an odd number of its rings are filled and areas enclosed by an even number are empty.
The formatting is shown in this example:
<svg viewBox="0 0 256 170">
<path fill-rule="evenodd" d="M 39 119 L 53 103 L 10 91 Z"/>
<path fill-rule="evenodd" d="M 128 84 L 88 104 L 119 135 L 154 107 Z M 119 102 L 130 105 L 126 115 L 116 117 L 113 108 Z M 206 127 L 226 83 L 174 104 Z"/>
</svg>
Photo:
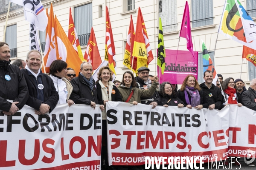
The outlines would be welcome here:
<svg viewBox="0 0 256 170">
<path fill-rule="evenodd" d="M 104 104 L 104 100 L 102 99 L 102 88 L 99 83 L 96 84 L 97 90 L 97 98 L 100 105 Z M 111 101 L 113 102 L 122 102 L 122 96 L 118 90 L 118 88 L 113 85 L 113 90 L 116 91 L 115 94 L 111 93 Z"/>
</svg>

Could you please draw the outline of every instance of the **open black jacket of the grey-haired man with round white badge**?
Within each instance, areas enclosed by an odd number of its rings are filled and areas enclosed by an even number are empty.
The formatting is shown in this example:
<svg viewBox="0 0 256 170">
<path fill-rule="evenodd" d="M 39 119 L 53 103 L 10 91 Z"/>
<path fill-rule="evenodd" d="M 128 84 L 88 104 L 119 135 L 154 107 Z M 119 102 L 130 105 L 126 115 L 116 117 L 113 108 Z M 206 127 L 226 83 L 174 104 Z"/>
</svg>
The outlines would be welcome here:
<svg viewBox="0 0 256 170">
<path fill-rule="evenodd" d="M 24 74 L 26 83 L 29 88 L 29 99 L 26 102 L 26 105 L 39 111 L 41 104 L 44 103 L 50 106 L 49 113 L 53 111 L 58 103 L 59 95 L 56 91 L 56 88 L 54 87 L 51 77 L 49 77 L 47 74 L 42 74 L 41 76 L 42 84 L 44 85 L 44 102 L 42 102 L 41 100 L 37 99 L 39 91 L 38 83 L 35 81 L 35 76 L 29 74 L 27 69 L 21 69 L 21 72 Z"/>
</svg>

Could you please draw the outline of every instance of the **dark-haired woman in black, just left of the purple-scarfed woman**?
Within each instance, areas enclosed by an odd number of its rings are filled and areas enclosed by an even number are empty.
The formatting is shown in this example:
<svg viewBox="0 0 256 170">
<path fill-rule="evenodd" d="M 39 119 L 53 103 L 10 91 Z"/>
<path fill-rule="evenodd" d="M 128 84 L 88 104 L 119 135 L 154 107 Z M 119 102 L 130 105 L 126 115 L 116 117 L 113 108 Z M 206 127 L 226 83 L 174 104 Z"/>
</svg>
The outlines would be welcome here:
<svg viewBox="0 0 256 170">
<path fill-rule="evenodd" d="M 173 91 L 172 84 L 169 82 L 163 82 L 159 89 L 159 96 L 161 97 L 160 106 L 178 106 L 178 108 L 184 107 L 184 102 L 178 98 L 177 92 Z"/>
</svg>

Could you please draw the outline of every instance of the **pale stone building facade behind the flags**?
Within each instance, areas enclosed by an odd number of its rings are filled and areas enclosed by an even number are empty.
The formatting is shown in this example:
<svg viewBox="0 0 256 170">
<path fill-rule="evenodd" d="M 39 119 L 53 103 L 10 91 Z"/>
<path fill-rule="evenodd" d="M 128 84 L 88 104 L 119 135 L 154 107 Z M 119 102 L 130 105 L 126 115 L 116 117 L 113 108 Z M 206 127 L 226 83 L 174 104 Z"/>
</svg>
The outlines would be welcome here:
<svg viewBox="0 0 256 170">
<path fill-rule="evenodd" d="M 130 15 L 136 28 L 138 8 L 141 8 L 145 27 L 148 33 L 154 60 L 149 64 L 150 74 L 157 74 L 157 43 L 159 17 L 163 24 L 164 44 L 166 49 L 177 50 L 179 31 L 186 0 L 41 0 L 44 9 L 53 4 L 54 14 L 58 17 L 64 31 L 68 31 L 69 8 L 71 7 L 76 31 L 79 36 L 81 49 L 84 54 L 90 29 L 93 26 L 99 53 L 104 59 L 105 54 L 105 6 L 108 6 L 113 39 L 116 48 L 117 79 L 128 71 L 122 62 L 127 40 Z M 256 20 L 256 0 L 241 0 L 241 4 Z M 233 77 L 243 79 L 247 84 L 256 78 L 256 68 L 246 59 L 242 60 L 242 45 L 238 42 L 218 34 L 214 53 L 218 27 L 225 0 L 188 0 L 192 42 L 194 51 L 198 51 L 198 82 L 203 82 L 202 40 L 206 44 L 218 74 L 224 79 Z M 0 40 L 6 24 L 6 14 L 9 0 L 0 0 Z M 40 41 L 44 51 L 45 32 L 40 31 Z M 29 51 L 29 23 L 25 21 L 23 7 L 11 4 L 6 27 L 5 42 L 9 43 L 12 60 L 26 59 Z M 186 40 L 180 38 L 179 50 L 186 49 Z M 241 63 L 242 69 L 241 69 Z"/>
</svg>

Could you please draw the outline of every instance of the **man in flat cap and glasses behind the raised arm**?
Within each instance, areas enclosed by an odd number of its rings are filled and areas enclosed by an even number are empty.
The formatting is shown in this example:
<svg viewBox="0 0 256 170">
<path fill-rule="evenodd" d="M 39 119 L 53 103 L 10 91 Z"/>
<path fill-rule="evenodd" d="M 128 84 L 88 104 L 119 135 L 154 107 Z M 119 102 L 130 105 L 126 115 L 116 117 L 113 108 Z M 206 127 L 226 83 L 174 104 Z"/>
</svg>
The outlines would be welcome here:
<svg viewBox="0 0 256 170">
<path fill-rule="evenodd" d="M 149 75 L 149 69 L 146 67 L 141 67 L 138 69 L 138 76 L 135 77 L 135 81 L 137 82 L 137 88 L 140 89 L 148 89 L 151 86 L 151 80 L 148 78 Z M 145 105 L 153 105 L 152 108 L 155 108 L 158 103 L 160 102 L 160 96 L 158 95 L 158 92 L 155 91 L 153 96 L 151 97 L 141 97 L 140 101 L 142 104 Z"/>
</svg>

